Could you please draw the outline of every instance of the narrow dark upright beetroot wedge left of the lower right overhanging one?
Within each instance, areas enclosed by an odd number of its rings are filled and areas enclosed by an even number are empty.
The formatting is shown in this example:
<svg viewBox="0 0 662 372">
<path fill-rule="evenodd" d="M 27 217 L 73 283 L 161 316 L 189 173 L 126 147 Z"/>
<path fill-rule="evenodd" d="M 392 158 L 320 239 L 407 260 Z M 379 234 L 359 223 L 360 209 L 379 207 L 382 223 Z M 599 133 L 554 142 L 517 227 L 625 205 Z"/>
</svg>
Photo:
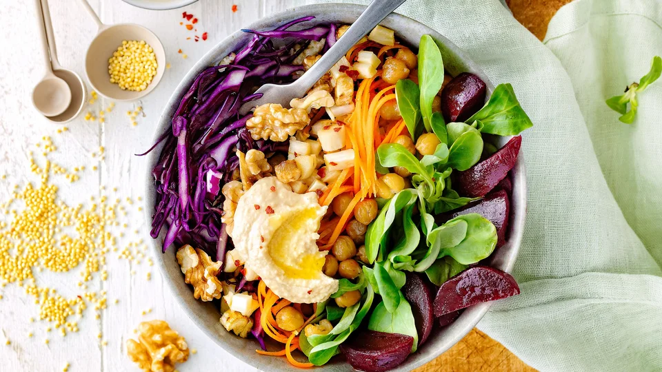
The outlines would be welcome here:
<svg viewBox="0 0 662 372">
<path fill-rule="evenodd" d="M 434 311 L 432 310 L 432 291 L 417 273 L 407 273 L 407 281 L 402 287 L 402 293 L 412 306 L 414 323 L 419 333 L 419 346 L 428 340 L 434 325 Z"/>
</svg>

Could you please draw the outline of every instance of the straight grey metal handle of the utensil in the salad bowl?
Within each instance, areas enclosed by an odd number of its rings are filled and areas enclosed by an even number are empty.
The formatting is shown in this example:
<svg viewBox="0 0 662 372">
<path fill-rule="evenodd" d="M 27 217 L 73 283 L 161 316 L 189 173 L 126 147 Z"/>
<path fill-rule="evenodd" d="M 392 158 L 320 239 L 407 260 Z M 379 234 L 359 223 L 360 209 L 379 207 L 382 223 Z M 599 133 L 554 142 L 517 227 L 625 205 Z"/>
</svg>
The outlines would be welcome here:
<svg viewBox="0 0 662 372">
<path fill-rule="evenodd" d="M 343 37 L 323 54 L 310 70 L 306 71 L 296 84 L 307 92 L 324 74 L 330 70 L 362 37 L 372 31 L 379 22 L 383 21 L 406 0 L 372 0 L 365 12 L 352 23 L 352 26 L 343 34 Z"/>
</svg>

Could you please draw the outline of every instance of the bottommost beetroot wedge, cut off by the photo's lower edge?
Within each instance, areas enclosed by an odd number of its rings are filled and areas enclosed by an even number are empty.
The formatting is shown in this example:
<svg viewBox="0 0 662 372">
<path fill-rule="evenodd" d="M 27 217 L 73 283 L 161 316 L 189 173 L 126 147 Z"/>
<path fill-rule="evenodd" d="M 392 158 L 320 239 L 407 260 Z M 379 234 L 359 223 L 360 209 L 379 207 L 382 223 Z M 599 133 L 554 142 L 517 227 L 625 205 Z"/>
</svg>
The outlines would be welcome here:
<svg viewBox="0 0 662 372">
<path fill-rule="evenodd" d="M 399 366 L 413 346 L 412 336 L 366 330 L 354 333 L 340 349 L 354 369 L 380 372 Z"/>
</svg>

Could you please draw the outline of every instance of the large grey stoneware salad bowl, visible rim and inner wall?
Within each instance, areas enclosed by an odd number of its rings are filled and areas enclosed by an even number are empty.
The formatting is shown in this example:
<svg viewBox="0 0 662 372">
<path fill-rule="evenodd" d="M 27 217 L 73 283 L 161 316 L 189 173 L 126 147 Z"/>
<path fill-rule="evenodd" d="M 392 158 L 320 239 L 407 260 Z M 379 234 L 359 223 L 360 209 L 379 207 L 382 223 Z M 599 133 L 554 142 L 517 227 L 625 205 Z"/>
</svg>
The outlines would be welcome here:
<svg viewBox="0 0 662 372">
<path fill-rule="evenodd" d="M 340 10 L 341 9 L 341 10 Z M 249 25 L 248 28 L 253 30 L 271 30 L 277 26 L 297 19 L 313 15 L 316 17 L 317 22 L 336 22 L 336 23 L 352 23 L 356 20 L 361 12 L 365 10 L 365 6 L 348 5 L 348 4 L 324 4 L 314 6 L 303 6 L 300 8 L 293 8 L 266 17 Z M 310 25 L 310 23 L 308 23 Z M 408 45 L 417 47 L 419 40 L 423 34 L 430 34 L 437 41 L 443 54 L 444 66 L 450 74 L 456 76 L 460 72 L 472 72 L 480 76 L 483 81 L 488 85 L 488 96 L 494 89 L 494 85 L 490 83 L 487 76 L 478 68 L 478 66 L 470 61 L 468 57 L 457 48 L 456 45 L 451 43 L 448 39 L 443 37 L 438 32 L 431 28 L 414 21 L 408 17 L 400 14 L 391 14 L 386 18 L 382 25 L 395 30 L 397 36 Z M 205 54 L 196 65 L 186 74 L 177 90 L 170 97 L 170 101 L 165 105 L 165 109 L 161 114 L 159 125 L 154 135 L 154 141 L 163 133 L 168 130 L 171 125 L 172 114 L 177 110 L 181 97 L 190 87 L 195 76 L 204 68 L 210 65 L 218 64 L 221 59 L 230 52 L 236 51 L 241 48 L 250 39 L 250 34 L 245 34 L 241 31 L 234 32 L 230 37 L 223 40 L 216 45 L 210 52 Z M 501 145 L 504 145 L 508 138 L 501 138 Z M 151 152 L 148 156 L 148 168 L 146 169 L 146 205 L 145 205 L 145 218 L 148 225 L 151 225 L 151 215 L 154 211 L 154 180 L 150 174 L 150 170 L 157 163 L 159 154 L 161 153 L 161 146 L 157 147 L 155 151 Z M 512 170 L 512 204 L 510 216 L 510 231 L 508 243 L 503 247 L 494 251 L 490 258 L 490 265 L 501 269 L 503 271 L 511 271 L 517 256 L 517 251 L 522 240 L 524 228 L 524 216 L 526 207 L 526 185 L 525 174 L 522 154 L 519 154 L 514 169 Z M 165 229 L 164 229 L 165 230 Z M 175 259 L 175 247 L 169 247 L 165 254 L 161 253 L 161 243 L 163 242 L 165 231 L 161 231 L 161 236 L 157 240 L 150 239 L 152 250 L 154 251 L 155 260 L 165 282 L 172 290 L 174 300 L 188 314 L 191 320 L 210 338 L 211 342 L 215 342 L 219 347 L 228 352 L 228 354 L 241 360 L 246 364 L 261 369 L 262 371 L 293 371 L 296 368 L 288 364 L 285 358 L 276 358 L 270 356 L 263 356 L 255 353 L 255 349 L 259 348 L 256 340 L 239 338 L 234 333 L 228 333 L 223 326 L 219 323 L 221 313 L 219 309 L 210 302 L 201 302 L 195 300 L 192 296 L 192 289 L 184 283 L 183 275 Z M 423 344 L 419 350 L 410 355 L 403 364 L 401 364 L 394 371 L 410 371 L 418 366 L 421 366 L 430 360 L 436 358 L 444 351 L 447 351 L 463 338 L 490 308 L 490 302 L 477 304 L 473 307 L 466 309 L 462 315 L 455 320 L 452 324 L 443 329 L 436 329 L 428 338 L 428 341 Z M 282 346 L 281 346 L 282 348 Z M 275 349 L 275 347 L 274 347 Z M 298 353 L 298 351 L 297 351 Z M 352 371 L 350 364 L 347 364 L 341 355 L 333 358 L 331 362 L 322 367 L 317 367 L 319 371 Z"/>
</svg>

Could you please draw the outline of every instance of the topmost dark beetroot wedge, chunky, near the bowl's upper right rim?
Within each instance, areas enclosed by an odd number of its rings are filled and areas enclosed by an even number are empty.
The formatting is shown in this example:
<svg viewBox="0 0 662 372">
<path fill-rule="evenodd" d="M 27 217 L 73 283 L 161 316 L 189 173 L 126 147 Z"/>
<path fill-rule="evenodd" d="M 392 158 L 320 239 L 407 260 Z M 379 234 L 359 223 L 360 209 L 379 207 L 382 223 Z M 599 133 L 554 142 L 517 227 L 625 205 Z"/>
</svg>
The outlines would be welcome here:
<svg viewBox="0 0 662 372">
<path fill-rule="evenodd" d="M 459 74 L 441 91 L 443 117 L 446 121 L 467 120 L 483 107 L 485 92 L 481 78 L 468 72 Z"/>
</svg>

